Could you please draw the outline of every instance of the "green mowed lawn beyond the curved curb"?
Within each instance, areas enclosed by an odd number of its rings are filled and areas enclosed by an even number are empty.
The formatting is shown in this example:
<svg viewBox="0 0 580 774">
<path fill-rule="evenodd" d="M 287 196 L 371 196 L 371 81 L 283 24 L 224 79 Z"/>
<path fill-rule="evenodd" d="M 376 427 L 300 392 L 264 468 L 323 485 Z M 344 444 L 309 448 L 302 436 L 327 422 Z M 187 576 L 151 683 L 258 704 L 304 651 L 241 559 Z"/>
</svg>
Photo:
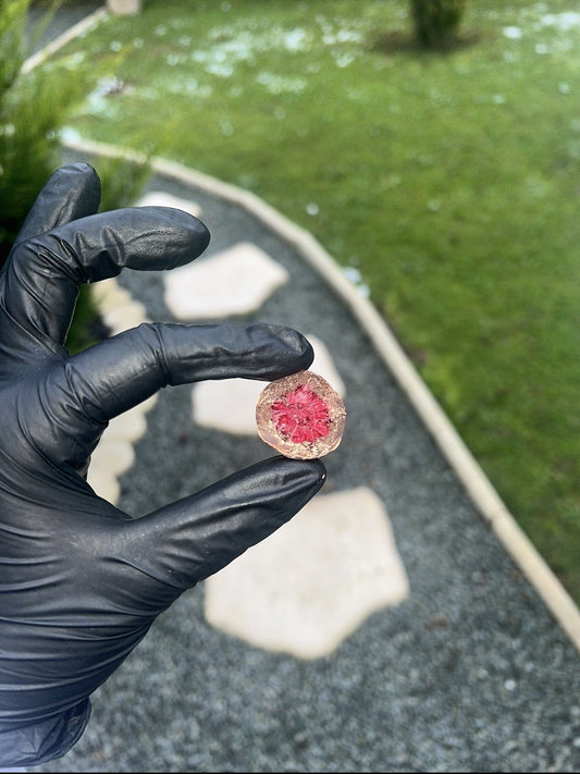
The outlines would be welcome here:
<svg viewBox="0 0 580 774">
<path fill-rule="evenodd" d="M 87 77 L 70 132 L 248 188 L 360 272 L 580 602 L 578 3 L 468 2 L 421 53 L 406 0 L 150 0 L 44 66 Z"/>
</svg>

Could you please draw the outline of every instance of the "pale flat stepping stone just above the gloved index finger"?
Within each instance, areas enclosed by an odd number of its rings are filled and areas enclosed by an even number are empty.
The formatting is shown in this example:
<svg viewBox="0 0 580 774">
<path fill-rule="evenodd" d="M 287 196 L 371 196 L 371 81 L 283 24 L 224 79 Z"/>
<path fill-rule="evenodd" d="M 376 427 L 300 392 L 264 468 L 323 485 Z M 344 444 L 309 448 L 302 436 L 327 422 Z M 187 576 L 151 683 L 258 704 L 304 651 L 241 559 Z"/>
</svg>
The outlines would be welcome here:
<svg viewBox="0 0 580 774">
<path fill-rule="evenodd" d="M 239 242 L 169 272 L 164 298 L 178 320 L 247 315 L 288 279 L 288 272 L 257 245 Z"/>
</svg>

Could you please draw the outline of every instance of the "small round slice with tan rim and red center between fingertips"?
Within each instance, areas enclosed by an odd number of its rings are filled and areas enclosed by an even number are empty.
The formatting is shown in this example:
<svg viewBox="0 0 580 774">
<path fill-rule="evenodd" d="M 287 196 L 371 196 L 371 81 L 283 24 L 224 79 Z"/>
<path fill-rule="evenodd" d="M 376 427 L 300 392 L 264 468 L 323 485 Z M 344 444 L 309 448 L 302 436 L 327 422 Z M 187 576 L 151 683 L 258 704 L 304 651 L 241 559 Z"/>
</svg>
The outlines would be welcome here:
<svg viewBox="0 0 580 774">
<path fill-rule="evenodd" d="M 342 397 L 313 371 L 270 382 L 256 404 L 260 438 L 293 459 L 314 459 L 334 451 L 345 421 Z"/>
</svg>

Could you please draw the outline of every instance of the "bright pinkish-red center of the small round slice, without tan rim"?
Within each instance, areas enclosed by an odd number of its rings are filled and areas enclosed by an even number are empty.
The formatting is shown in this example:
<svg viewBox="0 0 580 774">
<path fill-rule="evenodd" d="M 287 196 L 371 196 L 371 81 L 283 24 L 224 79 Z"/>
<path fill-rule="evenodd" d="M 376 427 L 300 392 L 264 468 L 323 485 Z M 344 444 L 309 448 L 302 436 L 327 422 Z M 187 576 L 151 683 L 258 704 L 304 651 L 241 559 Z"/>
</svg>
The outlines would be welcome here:
<svg viewBox="0 0 580 774">
<path fill-rule="evenodd" d="M 272 404 L 272 420 L 281 435 L 293 443 L 314 443 L 329 434 L 330 411 L 326 403 L 301 384 Z"/>
</svg>

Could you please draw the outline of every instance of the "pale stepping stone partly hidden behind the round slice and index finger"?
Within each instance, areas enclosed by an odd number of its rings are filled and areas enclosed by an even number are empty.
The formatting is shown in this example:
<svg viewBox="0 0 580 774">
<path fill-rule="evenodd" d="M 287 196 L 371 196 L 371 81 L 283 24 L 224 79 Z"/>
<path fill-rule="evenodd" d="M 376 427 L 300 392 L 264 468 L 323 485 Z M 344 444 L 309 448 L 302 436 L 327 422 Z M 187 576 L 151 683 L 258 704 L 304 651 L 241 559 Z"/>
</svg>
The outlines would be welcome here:
<svg viewBox="0 0 580 774">
<path fill-rule="evenodd" d="M 314 351 L 310 370 L 320 373 L 344 397 L 345 385 L 326 345 L 317 336 L 307 339 Z M 193 419 L 201 427 L 234 435 L 257 435 L 256 402 L 264 386 L 264 382 L 251 379 L 199 382 L 192 388 Z"/>
</svg>

